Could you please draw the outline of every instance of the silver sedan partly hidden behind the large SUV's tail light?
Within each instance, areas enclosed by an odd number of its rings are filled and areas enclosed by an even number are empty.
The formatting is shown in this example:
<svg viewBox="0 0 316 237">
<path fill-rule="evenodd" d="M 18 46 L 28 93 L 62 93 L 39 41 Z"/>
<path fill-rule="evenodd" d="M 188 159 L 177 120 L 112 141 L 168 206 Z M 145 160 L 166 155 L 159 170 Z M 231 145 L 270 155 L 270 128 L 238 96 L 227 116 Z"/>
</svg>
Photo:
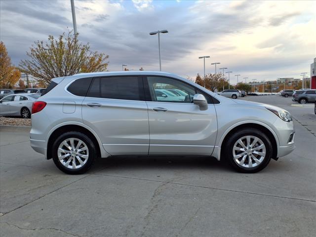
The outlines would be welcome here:
<svg viewBox="0 0 316 237">
<path fill-rule="evenodd" d="M 39 94 L 27 93 L 7 95 L 0 100 L 0 115 L 31 118 L 32 104 L 39 97 Z"/>
</svg>

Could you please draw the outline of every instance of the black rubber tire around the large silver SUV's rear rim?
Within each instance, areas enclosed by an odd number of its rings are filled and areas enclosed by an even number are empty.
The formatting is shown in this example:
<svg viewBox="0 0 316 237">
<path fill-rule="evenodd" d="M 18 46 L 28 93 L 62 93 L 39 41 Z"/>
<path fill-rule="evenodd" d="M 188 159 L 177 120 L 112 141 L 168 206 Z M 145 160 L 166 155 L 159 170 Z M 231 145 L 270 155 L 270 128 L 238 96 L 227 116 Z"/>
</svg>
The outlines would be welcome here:
<svg viewBox="0 0 316 237">
<path fill-rule="evenodd" d="M 87 158 L 86 163 L 80 168 L 77 168 L 77 169 L 67 168 L 59 161 L 58 147 L 67 138 L 78 138 L 81 141 L 83 141 L 86 144 L 86 146 L 88 147 L 89 156 Z M 60 135 L 56 139 L 56 141 L 54 142 L 54 144 L 52 146 L 52 158 L 53 158 L 53 161 L 54 161 L 55 165 L 57 166 L 57 168 L 59 168 L 64 173 L 66 173 L 66 174 L 83 174 L 88 169 L 91 168 L 92 164 L 94 163 L 95 159 L 97 158 L 97 149 L 96 149 L 93 141 L 87 135 L 85 135 L 81 132 L 71 131 L 71 132 L 66 132 L 66 133 Z"/>
</svg>

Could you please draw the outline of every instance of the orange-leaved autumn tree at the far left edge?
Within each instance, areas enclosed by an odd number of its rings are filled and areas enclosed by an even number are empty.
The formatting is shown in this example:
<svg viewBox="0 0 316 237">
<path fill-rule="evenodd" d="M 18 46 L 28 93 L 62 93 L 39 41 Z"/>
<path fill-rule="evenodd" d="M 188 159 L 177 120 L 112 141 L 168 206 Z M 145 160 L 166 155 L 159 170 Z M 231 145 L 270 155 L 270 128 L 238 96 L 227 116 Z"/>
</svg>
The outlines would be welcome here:
<svg viewBox="0 0 316 237">
<path fill-rule="evenodd" d="M 12 65 L 5 45 L 0 41 L 0 88 L 11 88 L 20 76 L 20 71 Z"/>
</svg>

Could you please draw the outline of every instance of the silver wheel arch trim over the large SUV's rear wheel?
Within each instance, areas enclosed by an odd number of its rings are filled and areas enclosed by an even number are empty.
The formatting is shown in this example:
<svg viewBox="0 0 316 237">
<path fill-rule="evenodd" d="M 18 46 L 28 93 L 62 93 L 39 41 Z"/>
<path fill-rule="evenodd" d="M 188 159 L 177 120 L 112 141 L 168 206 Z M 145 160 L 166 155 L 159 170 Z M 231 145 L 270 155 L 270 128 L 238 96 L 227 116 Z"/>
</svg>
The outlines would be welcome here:
<svg viewBox="0 0 316 237">
<path fill-rule="evenodd" d="M 46 153 L 46 158 L 47 159 L 51 159 L 52 158 L 52 154 L 51 154 L 51 149 L 52 149 L 52 145 L 53 142 L 57 139 L 57 137 L 65 132 L 70 132 L 70 131 L 79 131 L 84 133 L 85 135 L 87 135 L 94 143 L 97 152 L 98 152 L 98 157 L 107 157 L 110 154 L 108 154 L 101 143 L 101 140 L 99 139 L 99 137 L 97 136 L 97 134 L 91 129 L 89 129 L 88 127 L 86 127 L 84 124 L 60 124 L 60 126 L 58 127 L 54 127 L 50 130 L 49 134 L 48 134 L 48 139 L 47 139 L 47 153 Z"/>
</svg>

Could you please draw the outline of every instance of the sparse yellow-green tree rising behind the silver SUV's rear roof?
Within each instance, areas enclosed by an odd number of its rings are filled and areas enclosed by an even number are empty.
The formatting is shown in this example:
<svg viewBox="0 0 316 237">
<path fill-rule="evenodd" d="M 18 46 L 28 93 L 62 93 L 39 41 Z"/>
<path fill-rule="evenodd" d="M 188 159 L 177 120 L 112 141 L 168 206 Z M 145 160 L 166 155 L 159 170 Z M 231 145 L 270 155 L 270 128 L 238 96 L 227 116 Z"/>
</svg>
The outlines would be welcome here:
<svg viewBox="0 0 316 237">
<path fill-rule="evenodd" d="M 27 55 L 29 59 L 20 62 L 20 70 L 43 85 L 48 85 L 52 78 L 106 71 L 109 57 L 105 53 L 91 52 L 89 43 L 80 43 L 78 33 L 72 32 L 63 33 L 58 39 L 49 36 L 46 42 L 35 41 Z"/>
</svg>

